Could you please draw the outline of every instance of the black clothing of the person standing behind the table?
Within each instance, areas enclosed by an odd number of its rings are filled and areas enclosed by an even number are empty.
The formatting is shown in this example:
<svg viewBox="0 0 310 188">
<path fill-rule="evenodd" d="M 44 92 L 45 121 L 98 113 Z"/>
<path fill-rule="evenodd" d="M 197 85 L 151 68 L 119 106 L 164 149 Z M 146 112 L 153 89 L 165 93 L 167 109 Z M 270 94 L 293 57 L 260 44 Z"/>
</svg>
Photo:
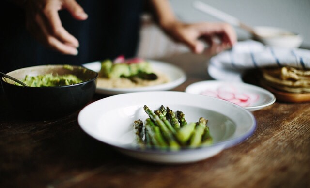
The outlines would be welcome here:
<svg viewBox="0 0 310 188">
<path fill-rule="evenodd" d="M 25 29 L 23 9 L 9 2 L 0 6 L 0 71 L 40 64 L 89 63 L 119 55 L 136 55 L 143 0 L 77 0 L 88 14 L 75 20 L 59 11 L 63 27 L 79 41 L 78 55 L 63 55 L 43 47 Z"/>
</svg>

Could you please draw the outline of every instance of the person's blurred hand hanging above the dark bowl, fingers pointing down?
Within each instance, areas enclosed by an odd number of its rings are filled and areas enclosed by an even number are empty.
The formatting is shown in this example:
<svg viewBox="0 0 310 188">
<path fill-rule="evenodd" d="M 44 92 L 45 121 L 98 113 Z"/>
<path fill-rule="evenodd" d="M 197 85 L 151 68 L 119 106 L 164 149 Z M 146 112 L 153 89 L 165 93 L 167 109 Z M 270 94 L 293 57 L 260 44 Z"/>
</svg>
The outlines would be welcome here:
<svg viewBox="0 0 310 188">
<path fill-rule="evenodd" d="M 35 39 L 63 54 L 78 54 L 78 40 L 62 27 L 58 14 L 65 9 L 77 20 L 87 19 L 75 0 L 27 0 L 24 7 L 27 30 Z"/>
</svg>

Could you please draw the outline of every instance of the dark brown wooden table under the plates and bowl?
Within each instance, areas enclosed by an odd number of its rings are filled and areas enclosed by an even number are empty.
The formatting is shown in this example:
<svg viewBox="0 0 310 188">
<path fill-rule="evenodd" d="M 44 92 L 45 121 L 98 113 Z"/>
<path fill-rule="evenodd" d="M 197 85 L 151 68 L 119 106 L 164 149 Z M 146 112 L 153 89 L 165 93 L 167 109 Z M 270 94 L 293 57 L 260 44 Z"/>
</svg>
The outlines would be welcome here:
<svg viewBox="0 0 310 188">
<path fill-rule="evenodd" d="M 206 56 L 160 60 L 186 71 L 188 79 L 176 91 L 211 79 Z M 3 96 L 0 102 L 1 188 L 310 187 L 309 103 L 276 102 L 254 111 L 257 129 L 248 140 L 200 162 L 163 165 L 126 157 L 88 136 L 78 125 L 78 112 L 25 120 L 4 110 Z"/>
</svg>

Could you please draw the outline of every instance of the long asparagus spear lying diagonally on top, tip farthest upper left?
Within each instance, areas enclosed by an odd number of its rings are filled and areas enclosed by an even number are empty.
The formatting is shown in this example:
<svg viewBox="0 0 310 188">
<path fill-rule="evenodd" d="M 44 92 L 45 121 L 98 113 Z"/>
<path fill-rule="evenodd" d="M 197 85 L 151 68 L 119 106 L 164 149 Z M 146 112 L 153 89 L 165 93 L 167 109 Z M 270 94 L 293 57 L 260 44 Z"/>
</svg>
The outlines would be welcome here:
<svg viewBox="0 0 310 188">
<path fill-rule="evenodd" d="M 157 125 L 164 138 L 168 141 L 171 149 L 178 149 L 180 147 L 179 143 L 174 139 L 172 132 L 168 129 L 165 123 L 159 118 L 158 115 L 153 113 L 152 110 L 149 109 L 146 105 L 143 107 L 144 111 L 149 115 L 150 119 Z"/>
</svg>

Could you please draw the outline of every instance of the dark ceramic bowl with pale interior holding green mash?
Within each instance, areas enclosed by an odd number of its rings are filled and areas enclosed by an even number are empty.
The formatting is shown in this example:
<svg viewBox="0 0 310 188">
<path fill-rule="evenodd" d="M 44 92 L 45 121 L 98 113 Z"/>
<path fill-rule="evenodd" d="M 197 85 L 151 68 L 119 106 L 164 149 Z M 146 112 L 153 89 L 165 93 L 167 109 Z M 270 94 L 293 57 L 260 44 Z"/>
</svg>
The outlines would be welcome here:
<svg viewBox="0 0 310 188">
<path fill-rule="evenodd" d="M 56 87 L 24 87 L 2 77 L 2 86 L 6 98 L 15 110 L 37 117 L 62 116 L 82 109 L 88 104 L 96 89 L 98 73 L 82 66 L 40 65 L 18 69 L 7 73 L 19 80 L 26 75 L 37 76 L 73 74 L 83 82 Z"/>
</svg>

